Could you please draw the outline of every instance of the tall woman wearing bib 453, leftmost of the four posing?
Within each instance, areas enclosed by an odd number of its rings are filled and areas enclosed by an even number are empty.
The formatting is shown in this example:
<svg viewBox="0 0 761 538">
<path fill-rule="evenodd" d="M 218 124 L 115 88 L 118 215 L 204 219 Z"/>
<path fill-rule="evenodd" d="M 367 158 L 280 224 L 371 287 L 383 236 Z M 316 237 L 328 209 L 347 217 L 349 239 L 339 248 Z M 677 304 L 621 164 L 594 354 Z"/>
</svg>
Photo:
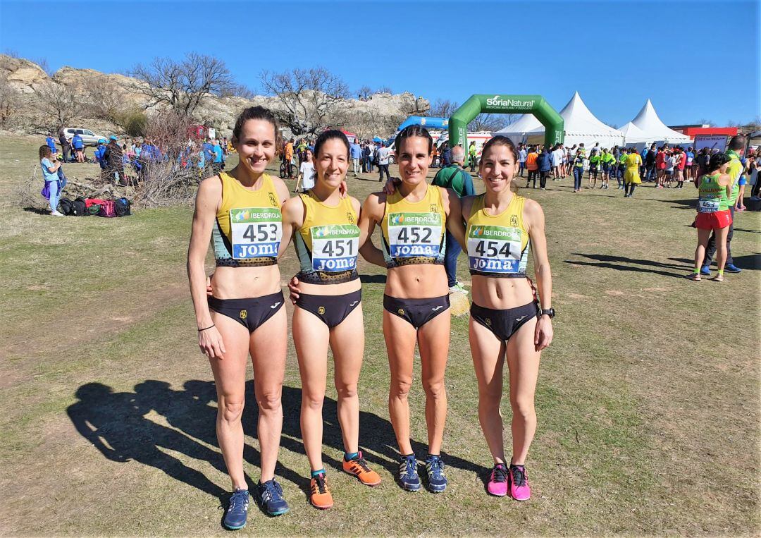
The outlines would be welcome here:
<svg viewBox="0 0 761 538">
<path fill-rule="evenodd" d="M 282 383 L 288 327 L 280 288 L 278 254 L 282 204 L 288 187 L 266 174 L 280 130 L 269 110 L 250 107 L 237 118 L 233 145 L 240 163 L 229 174 L 202 181 L 188 248 L 188 278 L 196 310 L 199 347 L 209 357 L 217 388 L 217 439 L 234 489 L 224 526 L 244 527 L 249 493 L 243 470 L 246 361 L 253 360 L 259 405 L 257 437 L 262 476 L 256 501 L 270 515 L 288 504 L 275 482 L 282 431 Z M 204 259 L 212 240 L 216 270 L 207 298 Z"/>
</svg>

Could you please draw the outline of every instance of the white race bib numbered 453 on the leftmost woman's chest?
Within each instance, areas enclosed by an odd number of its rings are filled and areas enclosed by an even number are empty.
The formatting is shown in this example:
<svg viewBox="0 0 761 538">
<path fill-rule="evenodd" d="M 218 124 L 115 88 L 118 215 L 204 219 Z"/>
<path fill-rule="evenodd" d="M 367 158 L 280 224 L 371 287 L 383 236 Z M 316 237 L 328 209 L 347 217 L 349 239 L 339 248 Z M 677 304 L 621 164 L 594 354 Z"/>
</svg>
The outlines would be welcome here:
<svg viewBox="0 0 761 538">
<path fill-rule="evenodd" d="M 275 258 L 282 239 L 282 215 L 275 207 L 230 210 L 233 259 Z"/>
</svg>

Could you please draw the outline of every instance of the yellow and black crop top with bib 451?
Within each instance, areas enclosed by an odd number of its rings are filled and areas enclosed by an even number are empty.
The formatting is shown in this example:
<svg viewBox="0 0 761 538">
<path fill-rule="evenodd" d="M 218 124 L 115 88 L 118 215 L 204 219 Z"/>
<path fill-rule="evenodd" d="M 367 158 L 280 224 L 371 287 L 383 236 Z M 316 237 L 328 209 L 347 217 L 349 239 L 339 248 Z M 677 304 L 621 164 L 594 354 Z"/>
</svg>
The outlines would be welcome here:
<svg viewBox="0 0 761 538">
<path fill-rule="evenodd" d="M 311 284 L 357 279 L 359 228 L 352 200 L 341 198 L 337 206 L 328 206 L 317 200 L 312 191 L 300 197 L 304 203 L 304 224 L 294 238 L 301 262 L 298 279 Z"/>
</svg>

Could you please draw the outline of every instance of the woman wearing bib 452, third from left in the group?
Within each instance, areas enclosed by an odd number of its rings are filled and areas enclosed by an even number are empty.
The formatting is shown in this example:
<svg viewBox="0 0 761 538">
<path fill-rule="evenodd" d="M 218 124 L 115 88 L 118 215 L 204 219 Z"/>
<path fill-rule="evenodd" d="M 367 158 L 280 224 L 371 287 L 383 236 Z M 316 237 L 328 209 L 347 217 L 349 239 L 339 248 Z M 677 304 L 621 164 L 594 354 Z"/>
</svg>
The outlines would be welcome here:
<svg viewBox="0 0 761 538">
<path fill-rule="evenodd" d="M 409 491 L 421 486 L 409 440 L 407 401 L 417 343 L 428 425 L 428 490 L 443 492 L 447 479 L 440 450 L 447 418 L 444 370 L 451 322 L 444 231 L 449 230 L 464 245 L 464 226 L 457 194 L 425 181 L 432 147 L 431 135 L 421 126 L 408 126 L 396 136 L 402 182 L 393 194 L 374 193 L 365 200 L 359 229 L 368 237 L 360 247 L 362 256 L 387 267 L 383 328 L 391 370 L 389 414 L 402 455 L 400 484 Z M 382 251 L 370 240 L 375 226 L 382 232 Z"/>
</svg>

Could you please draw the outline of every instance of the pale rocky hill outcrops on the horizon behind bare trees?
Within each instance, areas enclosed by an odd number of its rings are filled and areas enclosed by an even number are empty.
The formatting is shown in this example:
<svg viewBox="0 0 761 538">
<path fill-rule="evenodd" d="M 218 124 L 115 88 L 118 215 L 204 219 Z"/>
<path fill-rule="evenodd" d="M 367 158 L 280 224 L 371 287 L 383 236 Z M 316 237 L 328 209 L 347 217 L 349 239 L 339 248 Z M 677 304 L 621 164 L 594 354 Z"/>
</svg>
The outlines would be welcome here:
<svg viewBox="0 0 761 538">
<path fill-rule="evenodd" d="M 8 103 L 11 103 L 18 114 L 23 111 L 24 115 L 21 117 L 17 114 L 14 125 L 6 124 L 5 127 L 11 126 L 27 132 L 39 132 L 50 127 L 49 119 L 46 120 L 40 113 L 35 100 L 40 99 L 40 94 L 49 94 L 51 88 L 62 87 L 71 89 L 85 101 L 97 101 L 100 91 L 108 93 L 107 99 L 125 110 L 142 110 L 148 104 L 148 98 L 139 91 L 139 84 L 139 81 L 129 76 L 68 66 L 59 69 L 51 78 L 40 66 L 27 59 L 0 55 L 0 121 L 7 123 L 2 114 L 4 106 L 6 111 L 13 114 L 13 110 L 8 108 Z M 285 111 L 281 101 L 272 96 L 257 95 L 247 99 L 210 95 L 196 109 L 194 116 L 199 123 L 215 126 L 222 135 L 229 135 L 240 110 L 256 104 L 269 107 L 275 113 Z M 405 117 L 425 114 L 429 107 L 428 100 L 409 92 L 373 94 L 367 101 L 342 101 L 336 107 L 335 118 L 331 120 L 360 136 L 388 136 Z M 80 107 L 72 121 L 78 125 L 98 126 L 100 130 L 119 132 L 119 126 L 113 120 L 109 121 L 99 115 L 93 112 L 92 107 Z"/>
</svg>

